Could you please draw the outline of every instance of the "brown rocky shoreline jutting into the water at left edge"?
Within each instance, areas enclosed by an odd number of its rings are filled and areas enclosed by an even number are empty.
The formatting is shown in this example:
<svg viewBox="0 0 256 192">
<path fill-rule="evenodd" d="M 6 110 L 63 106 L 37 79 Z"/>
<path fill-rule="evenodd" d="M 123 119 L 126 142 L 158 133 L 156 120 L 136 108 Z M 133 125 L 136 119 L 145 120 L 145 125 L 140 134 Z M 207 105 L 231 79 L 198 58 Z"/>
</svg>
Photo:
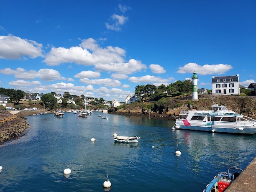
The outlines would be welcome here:
<svg viewBox="0 0 256 192">
<path fill-rule="evenodd" d="M 25 118 L 17 117 L 0 109 L 0 142 L 20 136 L 29 124 Z"/>
</svg>

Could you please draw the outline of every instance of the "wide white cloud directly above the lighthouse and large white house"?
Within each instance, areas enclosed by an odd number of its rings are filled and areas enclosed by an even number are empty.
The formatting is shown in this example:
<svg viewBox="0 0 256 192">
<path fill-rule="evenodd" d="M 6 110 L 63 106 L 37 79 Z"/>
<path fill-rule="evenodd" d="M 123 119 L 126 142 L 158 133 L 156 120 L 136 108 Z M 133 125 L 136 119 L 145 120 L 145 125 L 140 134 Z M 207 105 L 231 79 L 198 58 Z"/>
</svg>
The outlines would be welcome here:
<svg viewBox="0 0 256 192">
<path fill-rule="evenodd" d="M 185 64 L 184 67 L 179 67 L 178 73 L 193 73 L 196 71 L 198 74 L 224 74 L 233 67 L 228 64 L 215 64 L 215 65 L 198 65 L 196 63 Z"/>
</svg>

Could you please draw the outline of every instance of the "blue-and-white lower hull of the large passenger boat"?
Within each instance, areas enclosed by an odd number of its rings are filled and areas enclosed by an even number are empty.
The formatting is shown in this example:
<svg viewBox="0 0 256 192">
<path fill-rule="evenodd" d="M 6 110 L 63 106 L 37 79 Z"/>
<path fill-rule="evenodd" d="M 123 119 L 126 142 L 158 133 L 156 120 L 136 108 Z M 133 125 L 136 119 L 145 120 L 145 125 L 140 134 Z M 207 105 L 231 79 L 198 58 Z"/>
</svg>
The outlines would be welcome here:
<svg viewBox="0 0 256 192">
<path fill-rule="evenodd" d="M 175 128 L 177 129 L 187 129 L 195 131 L 208 131 L 208 132 L 219 132 L 219 133 L 236 133 L 236 134 L 255 134 L 256 128 L 227 128 L 227 127 L 217 127 L 217 126 L 195 126 L 195 125 L 180 125 L 176 123 Z M 213 131 L 212 131 L 213 130 Z"/>
</svg>

